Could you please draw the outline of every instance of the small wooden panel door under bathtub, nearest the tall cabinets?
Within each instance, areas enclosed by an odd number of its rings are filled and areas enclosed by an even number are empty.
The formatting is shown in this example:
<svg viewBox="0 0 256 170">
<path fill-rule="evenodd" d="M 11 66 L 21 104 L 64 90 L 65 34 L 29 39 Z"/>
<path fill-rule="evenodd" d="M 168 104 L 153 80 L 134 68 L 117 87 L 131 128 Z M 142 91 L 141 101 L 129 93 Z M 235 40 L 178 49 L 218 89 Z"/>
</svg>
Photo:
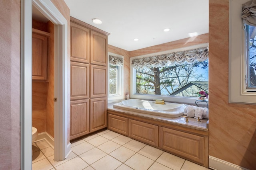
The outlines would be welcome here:
<svg viewBox="0 0 256 170">
<path fill-rule="evenodd" d="M 128 136 L 128 118 L 108 114 L 108 129 Z"/>
</svg>

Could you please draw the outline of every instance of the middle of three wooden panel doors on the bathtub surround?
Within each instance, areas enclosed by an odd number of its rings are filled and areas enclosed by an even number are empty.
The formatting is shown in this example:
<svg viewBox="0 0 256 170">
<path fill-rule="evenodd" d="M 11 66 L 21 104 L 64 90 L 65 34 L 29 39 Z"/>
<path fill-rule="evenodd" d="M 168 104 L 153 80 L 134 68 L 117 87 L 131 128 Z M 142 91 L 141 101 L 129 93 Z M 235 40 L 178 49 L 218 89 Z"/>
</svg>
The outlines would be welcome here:
<svg viewBox="0 0 256 170">
<path fill-rule="evenodd" d="M 158 147 L 158 126 L 130 119 L 129 137 Z"/>
</svg>

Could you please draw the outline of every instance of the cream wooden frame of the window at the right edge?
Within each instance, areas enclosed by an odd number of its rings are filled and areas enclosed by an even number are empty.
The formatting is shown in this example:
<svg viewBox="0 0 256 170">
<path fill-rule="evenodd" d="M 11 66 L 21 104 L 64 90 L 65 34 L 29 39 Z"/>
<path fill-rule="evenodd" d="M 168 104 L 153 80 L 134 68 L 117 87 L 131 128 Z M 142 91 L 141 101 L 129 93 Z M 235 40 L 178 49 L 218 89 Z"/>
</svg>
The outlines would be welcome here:
<svg viewBox="0 0 256 170">
<path fill-rule="evenodd" d="M 229 90 L 228 102 L 256 104 L 256 92 L 246 90 L 246 29 L 242 23 L 242 4 L 248 0 L 230 0 L 229 17 Z M 242 39 L 243 41 L 237 41 Z M 239 75 L 239 76 L 237 76 Z"/>
</svg>

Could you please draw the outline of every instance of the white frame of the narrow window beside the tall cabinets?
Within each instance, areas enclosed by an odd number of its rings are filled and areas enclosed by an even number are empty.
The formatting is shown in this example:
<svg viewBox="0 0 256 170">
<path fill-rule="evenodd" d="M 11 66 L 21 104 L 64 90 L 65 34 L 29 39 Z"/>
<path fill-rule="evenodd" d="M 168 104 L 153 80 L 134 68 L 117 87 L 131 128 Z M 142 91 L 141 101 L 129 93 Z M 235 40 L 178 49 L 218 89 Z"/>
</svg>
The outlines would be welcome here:
<svg viewBox="0 0 256 170">
<path fill-rule="evenodd" d="M 108 52 L 108 100 L 122 100 L 124 99 L 124 66 L 118 66 L 118 94 L 114 96 L 110 96 L 109 94 L 109 68 L 110 68 L 110 63 L 109 63 L 109 55 L 113 55 L 116 57 L 122 57 L 124 59 L 124 56 L 114 54 L 111 52 Z"/>
</svg>

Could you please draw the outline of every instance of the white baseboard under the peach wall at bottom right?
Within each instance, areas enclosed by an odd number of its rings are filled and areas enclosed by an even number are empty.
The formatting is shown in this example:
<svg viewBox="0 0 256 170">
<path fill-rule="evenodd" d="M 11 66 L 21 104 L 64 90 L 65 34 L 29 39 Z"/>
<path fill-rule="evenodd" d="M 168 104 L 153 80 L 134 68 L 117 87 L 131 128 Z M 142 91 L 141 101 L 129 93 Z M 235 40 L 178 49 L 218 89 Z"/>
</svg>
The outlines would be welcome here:
<svg viewBox="0 0 256 170">
<path fill-rule="evenodd" d="M 209 155 L 209 168 L 213 170 L 248 170 L 236 164 L 232 164 L 225 160 L 215 158 Z"/>
</svg>

